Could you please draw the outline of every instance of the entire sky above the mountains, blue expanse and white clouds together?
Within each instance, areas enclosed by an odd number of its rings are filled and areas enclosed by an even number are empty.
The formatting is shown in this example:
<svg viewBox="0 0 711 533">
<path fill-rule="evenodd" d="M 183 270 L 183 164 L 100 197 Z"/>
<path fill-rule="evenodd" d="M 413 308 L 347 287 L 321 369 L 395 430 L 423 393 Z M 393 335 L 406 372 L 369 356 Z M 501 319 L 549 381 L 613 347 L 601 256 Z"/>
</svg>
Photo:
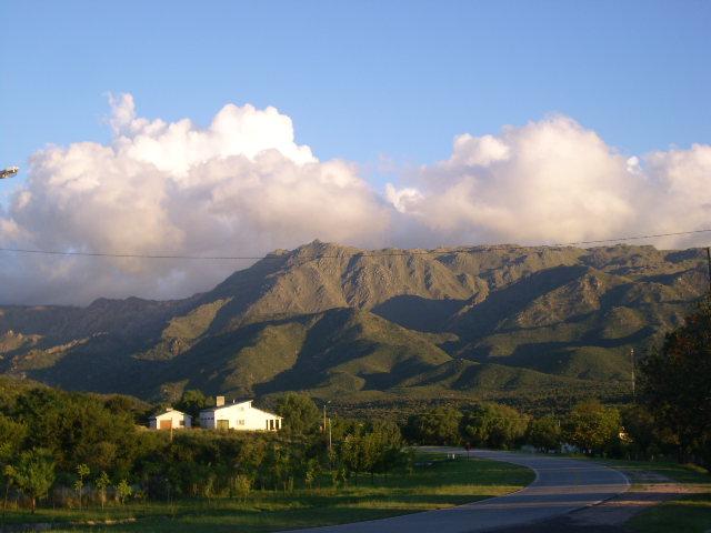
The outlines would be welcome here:
<svg viewBox="0 0 711 533">
<path fill-rule="evenodd" d="M 256 257 L 711 220 L 711 0 L 0 0 L 0 164 L 22 168 L 0 248 Z M 177 298 L 246 265 L 4 252 L 0 286 Z"/>
</svg>

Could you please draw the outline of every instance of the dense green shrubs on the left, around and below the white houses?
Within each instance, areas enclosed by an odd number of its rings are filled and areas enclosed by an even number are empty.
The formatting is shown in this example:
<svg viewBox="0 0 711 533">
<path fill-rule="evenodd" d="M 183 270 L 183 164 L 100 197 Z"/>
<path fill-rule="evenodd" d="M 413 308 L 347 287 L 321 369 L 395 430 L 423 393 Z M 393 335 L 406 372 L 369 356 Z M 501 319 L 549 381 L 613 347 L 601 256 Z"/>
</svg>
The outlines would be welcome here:
<svg viewBox="0 0 711 533">
<path fill-rule="evenodd" d="M 194 392 L 183 400 L 196 410 L 206 401 Z M 400 429 L 381 421 L 337 420 L 329 446 L 318 409 L 302 395 L 280 402 L 287 416 L 294 412 L 280 433 L 149 431 L 134 423 L 134 408 L 116 398 L 48 388 L 6 403 L 0 413 L 6 496 L 16 502 L 22 496 L 32 509 L 49 494 L 53 504 L 77 507 L 103 506 L 111 499 L 246 500 L 254 490 L 358 482 L 360 473 L 384 473 L 405 459 Z"/>
</svg>

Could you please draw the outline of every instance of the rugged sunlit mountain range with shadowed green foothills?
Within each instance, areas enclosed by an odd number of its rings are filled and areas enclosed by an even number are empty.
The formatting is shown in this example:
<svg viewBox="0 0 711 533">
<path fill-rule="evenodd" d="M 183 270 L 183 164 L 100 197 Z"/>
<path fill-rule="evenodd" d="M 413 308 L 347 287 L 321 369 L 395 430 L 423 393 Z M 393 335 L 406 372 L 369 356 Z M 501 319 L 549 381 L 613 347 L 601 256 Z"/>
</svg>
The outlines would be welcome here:
<svg viewBox="0 0 711 533">
<path fill-rule="evenodd" d="M 707 288 L 702 250 L 277 251 L 212 291 L 0 306 L 0 372 L 172 399 L 303 390 L 337 402 L 627 394 Z"/>
</svg>

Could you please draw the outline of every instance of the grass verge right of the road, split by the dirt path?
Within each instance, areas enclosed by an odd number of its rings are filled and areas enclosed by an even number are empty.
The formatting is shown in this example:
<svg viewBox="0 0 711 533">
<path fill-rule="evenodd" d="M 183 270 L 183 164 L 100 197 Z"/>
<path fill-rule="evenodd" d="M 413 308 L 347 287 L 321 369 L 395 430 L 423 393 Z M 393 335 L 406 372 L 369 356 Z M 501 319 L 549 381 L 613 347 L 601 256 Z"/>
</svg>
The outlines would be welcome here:
<svg viewBox="0 0 711 533">
<path fill-rule="evenodd" d="M 711 530 L 711 475 L 700 469 L 677 463 L 605 461 L 631 472 L 654 472 L 677 481 L 690 494 L 669 500 L 634 516 L 625 525 L 644 533 L 704 533 Z"/>
</svg>

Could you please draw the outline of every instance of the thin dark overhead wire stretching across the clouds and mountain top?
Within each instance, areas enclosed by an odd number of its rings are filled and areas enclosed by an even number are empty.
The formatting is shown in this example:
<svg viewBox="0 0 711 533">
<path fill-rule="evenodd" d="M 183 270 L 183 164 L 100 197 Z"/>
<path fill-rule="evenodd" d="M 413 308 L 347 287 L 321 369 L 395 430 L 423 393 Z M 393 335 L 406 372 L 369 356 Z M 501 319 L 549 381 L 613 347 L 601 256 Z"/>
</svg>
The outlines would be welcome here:
<svg viewBox="0 0 711 533">
<path fill-rule="evenodd" d="M 628 235 L 612 239 L 598 239 L 590 241 L 574 241 L 553 244 L 540 244 L 538 247 L 543 248 L 567 248 L 567 247 L 583 247 L 587 244 L 603 244 L 608 242 L 623 242 L 623 241 L 637 241 L 643 239 L 658 239 L 662 237 L 679 237 L 691 235 L 699 233 L 711 233 L 711 229 L 691 230 L 691 231 L 675 231 L 671 233 L 655 233 L 649 235 Z M 528 249 L 538 248 L 534 244 L 519 245 L 519 244 L 479 244 L 472 247 L 458 247 L 447 252 L 450 253 L 467 253 L 477 250 L 511 250 L 511 249 Z M 259 261 L 270 259 L 282 259 L 283 255 L 187 255 L 179 253 L 112 253 L 112 252 L 81 252 L 81 251 L 61 251 L 61 250 L 38 250 L 38 249 L 24 249 L 24 248 L 0 248 L 0 252 L 8 253 L 27 253 L 27 254 L 41 254 L 41 255 L 67 255 L 67 257 L 80 257 L 80 258 L 116 258 L 116 259 L 179 259 L 189 261 Z M 356 252 L 353 255 L 367 257 L 367 258 L 388 258 L 388 257 L 407 257 L 407 255 L 439 255 L 447 253 L 442 250 L 410 250 L 410 251 L 397 251 L 397 252 Z M 306 261 L 316 261 L 319 259 L 338 259 L 342 254 L 322 254 L 314 258 L 307 259 Z"/>
</svg>

